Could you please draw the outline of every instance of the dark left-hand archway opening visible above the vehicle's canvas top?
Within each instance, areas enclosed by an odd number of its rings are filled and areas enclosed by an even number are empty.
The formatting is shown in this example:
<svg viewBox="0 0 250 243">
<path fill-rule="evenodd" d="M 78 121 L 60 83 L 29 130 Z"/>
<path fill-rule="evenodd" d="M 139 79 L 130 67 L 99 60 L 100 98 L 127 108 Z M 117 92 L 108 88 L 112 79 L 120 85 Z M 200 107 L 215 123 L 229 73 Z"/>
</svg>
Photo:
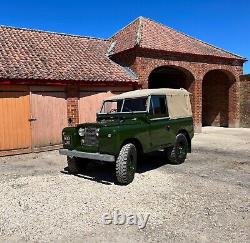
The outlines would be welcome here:
<svg viewBox="0 0 250 243">
<path fill-rule="evenodd" d="M 155 88 L 184 88 L 192 92 L 194 77 L 191 72 L 176 66 L 161 66 L 154 69 L 148 78 L 148 87 Z"/>
</svg>

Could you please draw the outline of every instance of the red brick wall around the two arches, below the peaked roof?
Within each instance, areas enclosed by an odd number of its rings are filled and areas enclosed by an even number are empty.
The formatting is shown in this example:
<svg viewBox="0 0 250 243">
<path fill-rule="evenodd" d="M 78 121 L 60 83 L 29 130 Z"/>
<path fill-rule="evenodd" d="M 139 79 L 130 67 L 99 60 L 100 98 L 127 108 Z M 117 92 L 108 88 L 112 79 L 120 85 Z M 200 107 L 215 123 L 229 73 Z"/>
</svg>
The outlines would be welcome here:
<svg viewBox="0 0 250 243">
<path fill-rule="evenodd" d="M 134 53 L 132 55 L 132 53 Z M 235 83 L 230 87 L 230 100 L 228 108 L 229 126 L 238 127 L 240 120 L 239 106 L 239 77 L 242 75 L 242 61 L 229 60 L 219 57 L 206 57 L 183 54 L 169 54 L 163 51 L 145 50 L 135 48 L 115 54 L 111 57 L 114 61 L 127 65 L 133 69 L 143 88 L 148 88 L 150 73 L 161 66 L 174 66 L 193 76 L 190 91 L 192 94 L 193 114 L 196 131 L 201 131 L 202 126 L 202 82 L 206 73 L 211 70 L 222 70 L 232 76 Z M 231 78 L 228 78 L 228 82 Z M 222 85 L 223 86 L 223 85 Z"/>
</svg>

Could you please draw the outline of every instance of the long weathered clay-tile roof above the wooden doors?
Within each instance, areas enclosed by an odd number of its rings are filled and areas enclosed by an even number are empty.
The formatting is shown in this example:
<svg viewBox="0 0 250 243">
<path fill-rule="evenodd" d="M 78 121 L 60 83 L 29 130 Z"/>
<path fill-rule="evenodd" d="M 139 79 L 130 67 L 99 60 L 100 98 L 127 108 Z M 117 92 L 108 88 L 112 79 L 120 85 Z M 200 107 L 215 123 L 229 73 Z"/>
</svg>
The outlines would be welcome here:
<svg viewBox="0 0 250 243">
<path fill-rule="evenodd" d="M 98 38 L 0 26 L 0 78 L 134 82 Z"/>
</svg>

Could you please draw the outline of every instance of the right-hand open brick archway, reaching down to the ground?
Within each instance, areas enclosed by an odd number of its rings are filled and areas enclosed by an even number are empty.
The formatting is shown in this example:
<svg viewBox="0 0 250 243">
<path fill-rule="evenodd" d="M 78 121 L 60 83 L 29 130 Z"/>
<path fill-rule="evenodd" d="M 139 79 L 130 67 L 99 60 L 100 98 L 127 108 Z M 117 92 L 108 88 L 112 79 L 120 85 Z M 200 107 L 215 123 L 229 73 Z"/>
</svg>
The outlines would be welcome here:
<svg viewBox="0 0 250 243">
<path fill-rule="evenodd" d="M 234 76 L 227 71 L 206 73 L 202 82 L 202 126 L 229 126 L 235 113 L 234 84 Z"/>
</svg>

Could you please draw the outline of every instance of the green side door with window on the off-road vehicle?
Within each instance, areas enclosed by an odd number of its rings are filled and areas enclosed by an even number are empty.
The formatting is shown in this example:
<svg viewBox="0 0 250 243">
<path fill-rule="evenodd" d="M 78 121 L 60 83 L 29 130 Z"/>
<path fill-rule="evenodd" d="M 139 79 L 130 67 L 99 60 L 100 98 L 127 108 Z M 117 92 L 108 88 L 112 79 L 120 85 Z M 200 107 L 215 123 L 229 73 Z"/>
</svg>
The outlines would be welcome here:
<svg viewBox="0 0 250 243">
<path fill-rule="evenodd" d="M 152 95 L 149 108 L 150 138 L 152 150 L 171 143 L 171 126 L 165 95 Z"/>
</svg>

